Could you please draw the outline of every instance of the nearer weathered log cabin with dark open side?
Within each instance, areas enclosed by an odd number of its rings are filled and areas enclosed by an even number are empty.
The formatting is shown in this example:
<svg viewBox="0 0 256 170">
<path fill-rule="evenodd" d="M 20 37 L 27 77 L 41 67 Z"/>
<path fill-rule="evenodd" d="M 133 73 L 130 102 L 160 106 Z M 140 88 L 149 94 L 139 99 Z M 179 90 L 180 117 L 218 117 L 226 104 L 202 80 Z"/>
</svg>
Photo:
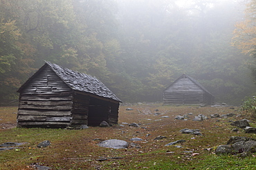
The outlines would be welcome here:
<svg viewBox="0 0 256 170">
<path fill-rule="evenodd" d="M 47 61 L 17 92 L 19 127 L 118 123 L 122 101 L 101 81 Z"/>
</svg>

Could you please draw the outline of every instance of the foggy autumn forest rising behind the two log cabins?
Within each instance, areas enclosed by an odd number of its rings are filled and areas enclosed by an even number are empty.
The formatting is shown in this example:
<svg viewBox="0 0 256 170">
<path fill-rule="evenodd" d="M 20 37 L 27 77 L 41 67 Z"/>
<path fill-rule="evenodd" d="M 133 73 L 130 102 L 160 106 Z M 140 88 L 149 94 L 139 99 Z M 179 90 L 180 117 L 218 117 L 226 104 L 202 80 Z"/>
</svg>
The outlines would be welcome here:
<svg viewBox="0 0 256 170">
<path fill-rule="evenodd" d="M 255 0 L 2 0 L 0 100 L 50 61 L 123 102 L 162 101 L 185 73 L 239 105 L 256 89 L 255 13 Z"/>
</svg>

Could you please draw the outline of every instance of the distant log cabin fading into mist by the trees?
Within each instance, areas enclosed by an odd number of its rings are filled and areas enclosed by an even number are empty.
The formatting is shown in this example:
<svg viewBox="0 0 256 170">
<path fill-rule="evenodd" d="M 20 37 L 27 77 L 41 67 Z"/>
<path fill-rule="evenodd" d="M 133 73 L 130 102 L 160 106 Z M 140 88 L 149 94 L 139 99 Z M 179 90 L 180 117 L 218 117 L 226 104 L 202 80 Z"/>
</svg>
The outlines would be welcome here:
<svg viewBox="0 0 256 170">
<path fill-rule="evenodd" d="M 186 74 L 177 78 L 163 92 L 163 103 L 165 105 L 211 105 L 213 102 L 214 96 L 194 78 Z"/>
</svg>

